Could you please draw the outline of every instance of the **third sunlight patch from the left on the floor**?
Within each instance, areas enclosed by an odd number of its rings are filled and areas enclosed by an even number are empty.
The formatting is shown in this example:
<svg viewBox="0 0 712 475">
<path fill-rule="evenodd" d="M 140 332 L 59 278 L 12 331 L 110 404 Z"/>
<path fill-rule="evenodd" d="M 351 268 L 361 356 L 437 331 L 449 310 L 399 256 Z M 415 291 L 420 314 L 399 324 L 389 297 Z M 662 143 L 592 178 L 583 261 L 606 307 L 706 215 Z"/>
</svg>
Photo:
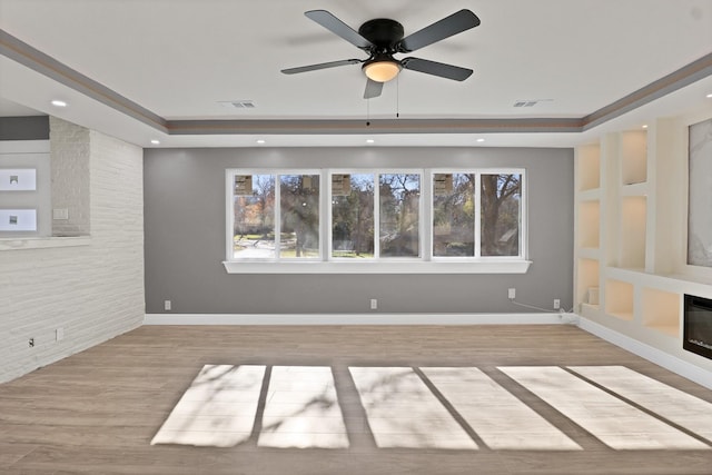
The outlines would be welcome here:
<svg viewBox="0 0 712 475">
<path fill-rule="evenodd" d="M 378 447 L 477 448 L 412 368 L 348 369 Z"/>
</svg>

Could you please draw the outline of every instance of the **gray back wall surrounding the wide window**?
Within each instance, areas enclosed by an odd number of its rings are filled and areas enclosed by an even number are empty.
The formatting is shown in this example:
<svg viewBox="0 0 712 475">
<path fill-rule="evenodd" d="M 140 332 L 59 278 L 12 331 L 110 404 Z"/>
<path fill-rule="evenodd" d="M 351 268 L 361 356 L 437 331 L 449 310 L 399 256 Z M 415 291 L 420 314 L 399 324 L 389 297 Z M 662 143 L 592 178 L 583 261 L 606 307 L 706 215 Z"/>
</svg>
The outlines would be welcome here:
<svg viewBox="0 0 712 475">
<path fill-rule="evenodd" d="M 524 167 L 524 275 L 229 275 L 225 170 Z M 522 313 L 507 300 L 572 306 L 573 150 L 525 148 L 147 149 L 144 159 L 146 311 L 174 314 Z"/>
</svg>

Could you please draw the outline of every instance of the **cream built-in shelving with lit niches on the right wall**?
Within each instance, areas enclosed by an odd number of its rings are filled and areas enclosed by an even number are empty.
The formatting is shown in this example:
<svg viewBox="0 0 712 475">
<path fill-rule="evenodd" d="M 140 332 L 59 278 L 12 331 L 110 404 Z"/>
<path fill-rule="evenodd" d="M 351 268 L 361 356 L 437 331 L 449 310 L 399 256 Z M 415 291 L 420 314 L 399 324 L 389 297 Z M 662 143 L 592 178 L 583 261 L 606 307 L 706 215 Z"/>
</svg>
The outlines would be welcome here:
<svg viewBox="0 0 712 475">
<path fill-rule="evenodd" d="M 688 127 L 709 112 L 693 116 L 653 119 L 576 148 L 574 308 L 712 370 L 682 347 L 683 296 L 712 298 L 712 269 L 685 261 Z"/>
</svg>

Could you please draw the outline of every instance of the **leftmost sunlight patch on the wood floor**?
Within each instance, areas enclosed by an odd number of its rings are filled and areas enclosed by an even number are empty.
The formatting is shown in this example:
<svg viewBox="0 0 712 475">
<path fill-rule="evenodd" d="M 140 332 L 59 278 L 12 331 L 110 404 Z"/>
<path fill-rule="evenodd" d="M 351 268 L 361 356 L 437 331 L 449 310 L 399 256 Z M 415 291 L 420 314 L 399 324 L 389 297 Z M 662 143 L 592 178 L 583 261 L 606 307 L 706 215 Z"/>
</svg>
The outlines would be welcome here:
<svg viewBox="0 0 712 475">
<path fill-rule="evenodd" d="M 250 437 L 265 366 L 206 365 L 151 445 L 233 447 Z"/>
</svg>

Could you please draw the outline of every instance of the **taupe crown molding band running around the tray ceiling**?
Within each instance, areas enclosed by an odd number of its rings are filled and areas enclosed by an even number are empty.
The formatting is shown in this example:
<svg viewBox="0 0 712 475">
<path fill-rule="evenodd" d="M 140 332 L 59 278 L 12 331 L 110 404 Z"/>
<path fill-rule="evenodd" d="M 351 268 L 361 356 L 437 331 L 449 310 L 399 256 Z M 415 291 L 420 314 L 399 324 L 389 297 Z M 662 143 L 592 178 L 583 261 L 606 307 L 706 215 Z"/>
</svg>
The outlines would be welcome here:
<svg viewBox="0 0 712 475">
<path fill-rule="evenodd" d="M 581 118 L 167 120 L 0 29 L 0 53 L 167 135 L 583 132 L 712 75 L 712 53 Z"/>
</svg>

